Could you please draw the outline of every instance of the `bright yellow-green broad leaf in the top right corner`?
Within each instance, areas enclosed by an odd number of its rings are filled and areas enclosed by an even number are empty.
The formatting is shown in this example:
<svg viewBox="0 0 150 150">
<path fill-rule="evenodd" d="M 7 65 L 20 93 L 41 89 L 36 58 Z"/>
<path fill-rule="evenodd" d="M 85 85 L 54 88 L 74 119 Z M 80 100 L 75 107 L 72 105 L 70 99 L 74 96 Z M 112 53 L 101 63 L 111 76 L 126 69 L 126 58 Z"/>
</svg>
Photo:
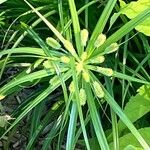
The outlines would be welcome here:
<svg viewBox="0 0 150 150">
<path fill-rule="evenodd" d="M 126 15 L 129 19 L 135 18 L 141 12 L 146 9 L 150 9 L 150 0 L 138 0 L 126 4 L 124 1 L 120 1 L 121 10 L 120 13 Z M 150 15 L 142 23 L 135 27 L 139 32 L 144 33 L 147 36 L 150 36 Z"/>
</svg>

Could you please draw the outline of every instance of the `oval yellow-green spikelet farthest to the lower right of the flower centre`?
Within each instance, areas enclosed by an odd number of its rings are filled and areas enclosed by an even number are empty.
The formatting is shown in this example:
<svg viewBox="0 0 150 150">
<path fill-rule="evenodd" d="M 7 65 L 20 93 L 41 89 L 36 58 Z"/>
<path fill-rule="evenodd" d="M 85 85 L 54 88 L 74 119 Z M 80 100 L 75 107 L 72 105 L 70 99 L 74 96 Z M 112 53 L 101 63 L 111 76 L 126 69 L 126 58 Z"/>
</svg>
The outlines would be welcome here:
<svg viewBox="0 0 150 150">
<path fill-rule="evenodd" d="M 97 81 L 94 81 L 93 87 L 94 87 L 94 91 L 95 91 L 96 96 L 98 98 L 103 98 L 104 97 L 104 91 L 101 88 L 101 85 Z"/>
</svg>

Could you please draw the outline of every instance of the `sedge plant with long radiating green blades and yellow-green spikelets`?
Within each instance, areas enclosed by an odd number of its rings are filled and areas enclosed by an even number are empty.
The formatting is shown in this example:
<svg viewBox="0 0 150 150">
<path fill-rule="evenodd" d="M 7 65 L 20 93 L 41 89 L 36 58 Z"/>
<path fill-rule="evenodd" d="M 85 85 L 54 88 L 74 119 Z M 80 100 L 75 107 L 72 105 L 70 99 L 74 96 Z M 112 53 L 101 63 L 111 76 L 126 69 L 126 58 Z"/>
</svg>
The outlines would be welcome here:
<svg viewBox="0 0 150 150">
<path fill-rule="evenodd" d="M 38 16 L 38 19 L 32 24 L 28 17 L 26 18 L 28 21 L 21 20 L 23 34 L 17 38 L 18 31 L 15 32 L 16 41 L 13 46 L 10 44 L 12 37 L 5 50 L 0 51 L 1 78 L 7 68 L 16 66 L 20 68 L 17 75 L 1 84 L 0 100 L 3 102 L 9 95 L 17 95 L 26 87 L 36 89 L 12 112 L 13 119 L 6 125 L 6 129 L 1 131 L 1 139 L 6 139 L 9 144 L 12 134 L 18 130 L 19 122 L 30 118 L 26 149 L 33 149 L 40 135 L 46 132 L 41 146 L 43 150 L 52 148 L 52 143 L 57 143 L 54 147 L 57 150 L 63 146 L 66 150 L 80 146 L 90 150 L 93 147 L 93 140 L 97 143 L 97 149 L 119 150 L 119 118 L 138 141 L 140 148 L 150 149 L 145 138 L 123 111 L 124 87 L 129 87 L 135 82 L 141 85 L 149 85 L 150 82 L 140 74 L 134 73 L 134 70 L 126 68 L 124 64 L 118 62 L 119 60 L 116 59 L 114 66 L 111 64 L 113 62 L 108 61 L 108 58 L 116 56 L 122 50 L 124 44 L 124 51 L 127 51 L 130 31 L 150 16 L 150 10 L 142 11 L 130 21 L 122 19 L 121 27 L 115 32 L 111 31 L 111 27 L 109 29 L 111 32 L 107 34 L 106 27 L 117 6 L 117 0 L 108 0 L 106 4 L 104 3 L 105 7 L 102 5 L 103 10 L 92 31 L 89 27 L 88 12 L 93 4 L 99 3 L 98 0 L 85 1 L 78 11 L 77 2 L 74 0 L 65 1 L 65 4 L 62 0 L 58 0 L 58 10 L 46 13 L 43 11 L 45 13 L 43 15 L 40 11 L 45 7 L 35 8 L 30 1 L 23 2 L 30 10 L 17 19 L 28 14 Z M 65 11 L 66 6 L 70 12 Z M 48 17 L 56 13 L 59 16 L 59 23 L 54 26 Z M 84 23 L 79 16 L 81 13 L 84 14 Z M 36 32 L 34 28 L 41 22 L 46 24 L 51 36 L 43 38 Z M 27 38 L 32 38 L 36 44 L 21 46 L 23 39 Z M 131 57 L 134 59 L 134 55 L 131 54 Z M 147 60 L 148 58 L 145 62 Z M 117 71 L 115 66 L 117 63 L 123 70 Z M 144 75 L 149 78 L 143 64 L 137 71 L 141 68 Z M 122 106 L 115 100 L 113 87 L 116 80 L 122 83 L 123 87 Z M 46 104 L 51 101 L 53 103 L 46 110 Z M 107 111 L 104 106 L 107 106 Z M 43 114 L 43 111 L 46 113 Z M 109 134 L 106 133 L 103 115 L 109 118 L 112 125 Z"/>
</svg>

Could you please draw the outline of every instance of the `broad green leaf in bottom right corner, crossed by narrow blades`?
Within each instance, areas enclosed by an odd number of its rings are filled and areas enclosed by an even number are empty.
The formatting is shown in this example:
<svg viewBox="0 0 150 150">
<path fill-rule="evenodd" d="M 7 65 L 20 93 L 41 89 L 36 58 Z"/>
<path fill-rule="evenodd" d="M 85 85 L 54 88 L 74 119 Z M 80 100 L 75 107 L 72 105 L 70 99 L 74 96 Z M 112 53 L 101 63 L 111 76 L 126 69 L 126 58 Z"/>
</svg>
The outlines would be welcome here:
<svg viewBox="0 0 150 150">
<path fill-rule="evenodd" d="M 150 127 L 142 128 L 138 130 L 139 133 L 143 136 L 145 141 L 150 144 Z M 127 149 L 128 145 L 132 145 L 135 149 Z M 113 142 L 109 144 L 110 150 L 113 150 Z M 119 138 L 119 149 L 120 150 L 143 150 L 139 142 L 133 136 L 133 134 L 128 133 L 121 138 Z"/>
</svg>

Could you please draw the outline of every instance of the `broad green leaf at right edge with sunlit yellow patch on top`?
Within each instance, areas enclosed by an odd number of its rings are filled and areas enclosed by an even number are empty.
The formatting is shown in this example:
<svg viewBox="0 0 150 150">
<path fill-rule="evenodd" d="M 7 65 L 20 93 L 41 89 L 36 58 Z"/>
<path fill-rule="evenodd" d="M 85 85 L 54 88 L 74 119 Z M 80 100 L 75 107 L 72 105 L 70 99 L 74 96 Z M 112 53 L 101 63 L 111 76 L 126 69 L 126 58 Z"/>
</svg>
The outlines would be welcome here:
<svg viewBox="0 0 150 150">
<path fill-rule="evenodd" d="M 132 96 L 126 104 L 124 113 L 128 118 L 135 122 L 148 112 L 150 112 L 150 85 L 143 85 L 138 89 L 138 94 Z M 126 128 L 125 125 L 119 121 L 120 132 Z"/>
</svg>

